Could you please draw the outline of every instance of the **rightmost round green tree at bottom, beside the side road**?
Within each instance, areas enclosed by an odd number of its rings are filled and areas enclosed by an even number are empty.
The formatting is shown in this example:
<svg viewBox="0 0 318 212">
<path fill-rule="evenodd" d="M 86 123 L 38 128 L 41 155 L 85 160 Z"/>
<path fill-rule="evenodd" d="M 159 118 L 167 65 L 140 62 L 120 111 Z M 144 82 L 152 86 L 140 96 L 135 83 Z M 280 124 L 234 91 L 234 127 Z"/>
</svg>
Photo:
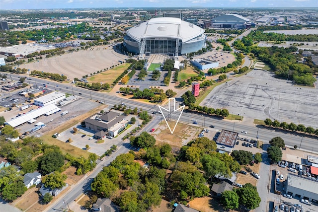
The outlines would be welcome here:
<svg viewBox="0 0 318 212">
<path fill-rule="evenodd" d="M 243 185 L 243 188 L 236 189 L 236 193 L 239 195 L 239 204 L 245 206 L 247 209 L 253 210 L 259 207 L 261 201 L 257 189 L 250 183 Z"/>
</svg>

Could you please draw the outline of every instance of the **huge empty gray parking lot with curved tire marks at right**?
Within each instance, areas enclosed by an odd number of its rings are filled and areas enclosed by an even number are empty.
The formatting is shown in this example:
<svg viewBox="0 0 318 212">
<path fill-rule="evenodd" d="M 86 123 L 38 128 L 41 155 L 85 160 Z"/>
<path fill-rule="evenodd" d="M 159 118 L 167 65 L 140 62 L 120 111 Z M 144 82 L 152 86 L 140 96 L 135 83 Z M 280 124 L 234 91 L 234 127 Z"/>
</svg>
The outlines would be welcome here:
<svg viewBox="0 0 318 212">
<path fill-rule="evenodd" d="M 318 127 L 318 89 L 295 86 L 273 72 L 253 70 L 217 86 L 200 104 L 231 114 Z"/>
</svg>

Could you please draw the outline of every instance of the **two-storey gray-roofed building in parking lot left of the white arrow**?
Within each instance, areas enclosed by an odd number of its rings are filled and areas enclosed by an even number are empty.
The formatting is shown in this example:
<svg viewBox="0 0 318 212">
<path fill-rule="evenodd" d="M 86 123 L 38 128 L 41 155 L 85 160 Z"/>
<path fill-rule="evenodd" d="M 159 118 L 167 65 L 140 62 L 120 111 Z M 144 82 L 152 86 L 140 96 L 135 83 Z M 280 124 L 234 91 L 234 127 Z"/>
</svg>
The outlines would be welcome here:
<svg viewBox="0 0 318 212">
<path fill-rule="evenodd" d="M 126 129 L 128 124 L 123 115 L 114 111 L 97 113 L 85 119 L 84 122 L 87 129 L 95 131 L 96 139 L 101 139 L 106 135 L 116 137 Z"/>
</svg>

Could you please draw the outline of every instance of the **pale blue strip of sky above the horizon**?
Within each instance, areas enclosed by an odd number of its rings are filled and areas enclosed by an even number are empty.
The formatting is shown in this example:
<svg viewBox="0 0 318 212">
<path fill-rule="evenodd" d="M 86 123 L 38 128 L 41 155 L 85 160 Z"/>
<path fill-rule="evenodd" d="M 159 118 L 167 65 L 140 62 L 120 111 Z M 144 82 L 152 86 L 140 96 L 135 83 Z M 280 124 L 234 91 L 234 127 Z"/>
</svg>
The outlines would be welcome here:
<svg viewBox="0 0 318 212">
<path fill-rule="evenodd" d="M 318 7 L 318 0 L 0 0 L 0 9 L 142 7 Z"/>
</svg>

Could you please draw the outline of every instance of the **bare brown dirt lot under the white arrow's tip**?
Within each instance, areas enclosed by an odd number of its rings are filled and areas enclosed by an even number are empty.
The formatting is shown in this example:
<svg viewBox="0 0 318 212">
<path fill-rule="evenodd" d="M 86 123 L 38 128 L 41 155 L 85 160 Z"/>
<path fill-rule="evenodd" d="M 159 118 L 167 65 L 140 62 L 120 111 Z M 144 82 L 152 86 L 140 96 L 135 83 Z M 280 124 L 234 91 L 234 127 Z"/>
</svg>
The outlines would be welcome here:
<svg viewBox="0 0 318 212">
<path fill-rule="evenodd" d="M 168 121 L 169 126 L 174 126 L 175 122 Z M 171 130 L 173 127 L 170 127 Z M 171 146 L 181 147 L 189 141 L 194 140 L 199 134 L 200 129 L 183 123 L 178 123 L 173 134 L 170 133 L 166 123 L 162 121 L 158 129 L 155 131 L 154 137 L 157 144 L 168 143 Z"/>
</svg>

